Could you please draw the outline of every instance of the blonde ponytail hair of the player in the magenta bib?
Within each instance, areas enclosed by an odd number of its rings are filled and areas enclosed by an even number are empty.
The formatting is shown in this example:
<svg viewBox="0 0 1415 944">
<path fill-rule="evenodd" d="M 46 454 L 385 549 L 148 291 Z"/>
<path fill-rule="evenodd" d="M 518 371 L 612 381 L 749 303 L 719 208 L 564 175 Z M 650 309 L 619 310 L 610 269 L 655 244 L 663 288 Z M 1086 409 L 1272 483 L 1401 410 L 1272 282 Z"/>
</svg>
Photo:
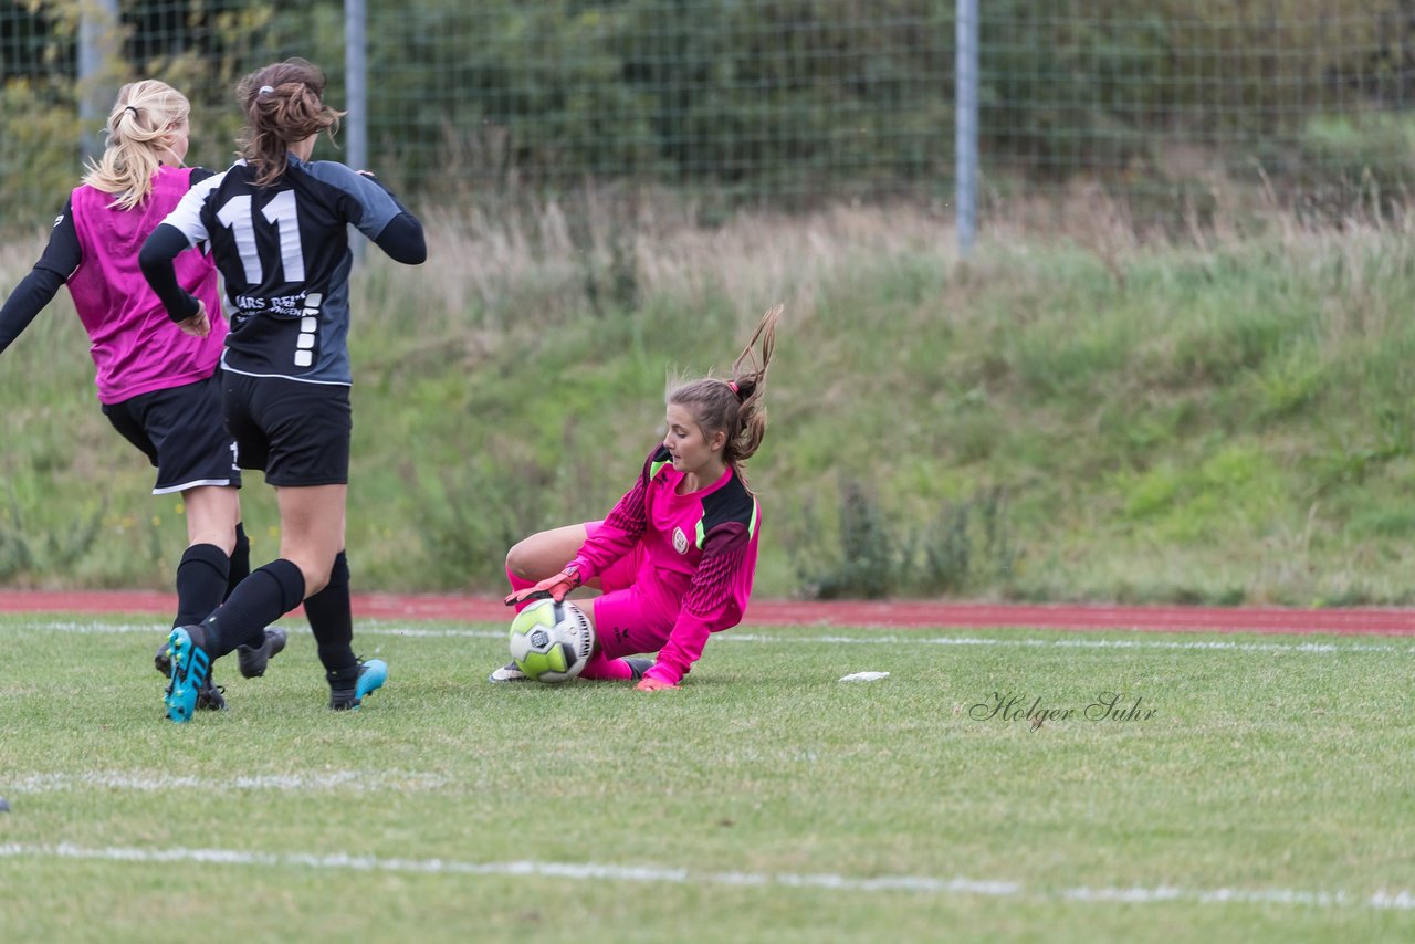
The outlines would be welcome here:
<svg viewBox="0 0 1415 944">
<path fill-rule="evenodd" d="M 153 192 L 167 133 L 191 115 L 191 102 L 158 79 L 129 82 L 108 116 L 103 156 L 88 163 L 83 183 L 113 194 L 113 207 L 132 209 Z"/>
</svg>

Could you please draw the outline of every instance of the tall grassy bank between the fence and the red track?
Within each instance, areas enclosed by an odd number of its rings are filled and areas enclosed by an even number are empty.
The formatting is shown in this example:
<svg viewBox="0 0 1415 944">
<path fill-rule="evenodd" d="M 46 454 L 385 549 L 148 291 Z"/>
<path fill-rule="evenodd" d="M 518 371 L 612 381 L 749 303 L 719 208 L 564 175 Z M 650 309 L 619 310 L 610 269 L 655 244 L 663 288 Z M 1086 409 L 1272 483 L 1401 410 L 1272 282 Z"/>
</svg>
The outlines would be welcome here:
<svg viewBox="0 0 1415 944">
<path fill-rule="evenodd" d="M 1402 214 L 1235 211 L 1180 242 L 1092 200 L 1044 231 L 1000 215 L 959 260 L 906 205 L 715 226 L 657 194 L 477 207 L 426 214 L 427 265 L 375 251 L 355 280 L 358 586 L 497 587 L 519 535 L 608 510 L 669 379 L 726 369 L 780 300 L 750 466 L 764 594 L 1415 600 Z M 0 286 L 41 239 L 0 251 Z M 51 307 L 0 361 L 0 580 L 163 586 L 175 500 L 146 494 Z"/>
</svg>

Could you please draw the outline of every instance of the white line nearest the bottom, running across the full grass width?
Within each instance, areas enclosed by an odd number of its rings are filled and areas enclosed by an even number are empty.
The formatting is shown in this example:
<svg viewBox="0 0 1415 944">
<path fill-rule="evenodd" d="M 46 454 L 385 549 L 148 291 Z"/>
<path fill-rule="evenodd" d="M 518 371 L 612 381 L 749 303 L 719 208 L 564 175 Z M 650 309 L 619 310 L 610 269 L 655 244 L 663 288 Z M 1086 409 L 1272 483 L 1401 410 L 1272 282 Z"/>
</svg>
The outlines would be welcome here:
<svg viewBox="0 0 1415 944">
<path fill-rule="evenodd" d="M 638 882 L 666 885 L 717 885 L 749 887 L 825 889 L 846 893 L 907 892 L 914 894 L 964 894 L 1080 902 L 1088 904 L 1285 904 L 1292 907 L 1365 907 L 1415 910 L 1408 890 L 1374 894 L 1351 892 L 1305 892 L 1300 889 L 1186 889 L 1177 886 L 1071 887 L 1029 890 L 1019 882 L 917 875 L 886 875 L 872 879 L 845 875 L 799 875 L 792 872 L 693 872 L 683 868 L 607 865 L 601 862 L 457 862 L 454 859 L 381 859 L 376 856 L 311 855 L 299 852 L 248 852 L 241 849 L 143 849 L 136 846 L 88 848 L 67 842 L 33 845 L 0 844 L 0 859 L 81 859 L 139 865 L 201 863 L 226 866 L 400 872 L 419 875 L 532 876 L 579 882 Z"/>
</svg>

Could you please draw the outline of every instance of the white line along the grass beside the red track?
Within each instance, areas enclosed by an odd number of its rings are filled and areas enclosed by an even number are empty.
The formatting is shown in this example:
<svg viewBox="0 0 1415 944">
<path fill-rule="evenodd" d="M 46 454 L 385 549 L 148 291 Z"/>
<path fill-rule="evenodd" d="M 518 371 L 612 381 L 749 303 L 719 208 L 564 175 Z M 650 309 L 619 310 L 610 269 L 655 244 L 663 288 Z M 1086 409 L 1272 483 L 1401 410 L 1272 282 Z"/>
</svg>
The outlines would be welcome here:
<svg viewBox="0 0 1415 944">
<path fill-rule="evenodd" d="M 303 623 L 297 623 L 303 626 Z M 1046 630 L 1037 630 L 1046 631 Z M 1119 631 L 1124 630 L 1105 630 Z M 50 621 L 28 623 L 17 626 L 0 626 L 0 635 L 8 633 L 91 633 L 91 634 L 123 634 L 142 633 L 160 638 L 163 634 L 160 624 L 153 623 L 75 623 Z M 1170 650 L 1170 651 L 1215 651 L 1215 652 L 1306 652 L 1306 654 L 1344 654 L 1344 652 L 1380 652 L 1387 655 L 1415 655 L 1415 644 L 1392 643 L 1238 643 L 1230 640 L 1165 640 L 1150 638 L 1146 633 L 1142 638 L 1128 640 L 1097 640 L 1070 635 L 1073 630 L 1058 630 L 1067 633 L 1060 638 L 1007 638 L 1007 637 L 979 637 L 979 635 L 771 635 L 763 633 L 734 633 L 732 630 L 719 633 L 713 643 L 753 643 L 766 645 L 1000 645 L 1020 648 L 1061 648 L 1061 650 Z M 355 624 L 358 635 L 395 635 L 409 638 L 466 638 L 466 640 L 504 640 L 504 630 L 456 630 L 456 628 L 426 628 L 400 624 L 362 623 Z M 1183 635 L 1183 631 L 1176 631 Z"/>
</svg>

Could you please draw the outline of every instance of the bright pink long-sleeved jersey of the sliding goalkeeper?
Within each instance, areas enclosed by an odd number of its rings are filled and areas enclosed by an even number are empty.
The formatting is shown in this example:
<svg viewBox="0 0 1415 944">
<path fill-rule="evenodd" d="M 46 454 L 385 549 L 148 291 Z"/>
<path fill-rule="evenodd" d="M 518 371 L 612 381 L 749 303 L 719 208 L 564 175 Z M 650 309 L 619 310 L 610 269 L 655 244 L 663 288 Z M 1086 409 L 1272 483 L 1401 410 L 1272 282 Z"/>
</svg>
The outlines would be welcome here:
<svg viewBox="0 0 1415 944">
<path fill-rule="evenodd" d="M 574 562 L 589 580 L 627 555 L 644 553 L 634 583 L 678 610 L 649 674 L 678 682 L 702 655 L 708 635 L 741 621 L 757 570 L 757 500 L 732 468 L 699 491 L 678 494 L 683 474 L 662 446 L 634 488 L 584 542 Z"/>
</svg>

